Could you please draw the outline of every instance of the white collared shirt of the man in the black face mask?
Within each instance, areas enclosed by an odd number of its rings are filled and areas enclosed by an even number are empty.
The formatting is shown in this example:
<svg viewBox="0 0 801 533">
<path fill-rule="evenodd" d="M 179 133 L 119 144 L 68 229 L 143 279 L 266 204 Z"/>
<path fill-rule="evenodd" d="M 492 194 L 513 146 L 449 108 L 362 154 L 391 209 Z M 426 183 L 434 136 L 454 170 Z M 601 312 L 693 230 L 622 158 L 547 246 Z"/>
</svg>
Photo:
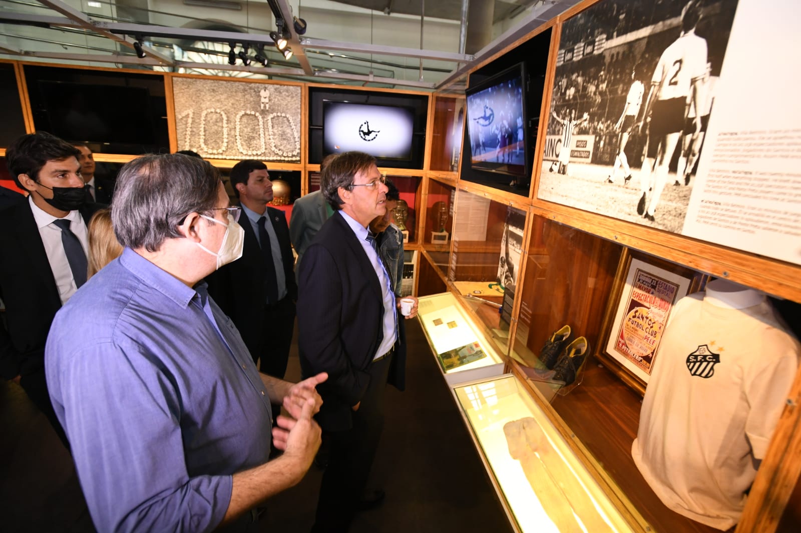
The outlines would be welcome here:
<svg viewBox="0 0 801 533">
<path fill-rule="evenodd" d="M 35 194 L 35 193 L 34 193 Z M 39 229 L 39 235 L 42 236 L 42 244 L 45 245 L 45 253 L 47 254 L 47 261 L 50 262 L 50 270 L 53 271 L 55 285 L 58 287 L 58 298 L 61 303 L 66 303 L 75 291 L 78 291 L 78 286 L 75 285 L 75 280 L 72 277 L 72 270 L 70 269 L 70 262 L 66 260 L 66 252 L 64 245 L 61 241 L 61 228 L 56 226 L 53 221 L 58 220 L 52 214 L 46 213 L 34 203 L 34 195 L 28 196 L 30 202 L 30 210 L 34 214 L 36 226 Z M 78 237 L 78 240 L 83 246 L 83 253 L 89 257 L 89 237 L 87 234 L 87 225 L 83 222 L 83 217 L 80 212 L 70 211 L 66 215 L 67 220 L 70 221 L 70 230 Z"/>
</svg>

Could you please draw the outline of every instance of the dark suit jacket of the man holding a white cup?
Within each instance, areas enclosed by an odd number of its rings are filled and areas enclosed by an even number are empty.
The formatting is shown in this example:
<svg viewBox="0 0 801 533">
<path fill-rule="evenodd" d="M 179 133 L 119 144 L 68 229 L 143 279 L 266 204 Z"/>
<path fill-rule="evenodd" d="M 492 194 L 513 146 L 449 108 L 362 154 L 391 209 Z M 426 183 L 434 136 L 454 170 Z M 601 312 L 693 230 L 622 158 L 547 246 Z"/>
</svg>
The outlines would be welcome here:
<svg viewBox="0 0 801 533">
<path fill-rule="evenodd" d="M 327 431 L 346 430 L 352 427 L 351 407 L 367 390 L 367 368 L 383 336 L 381 286 L 339 214 L 317 233 L 298 274 L 300 368 L 304 378 L 328 372 L 328 380 L 317 386 L 323 397 L 317 419 Z M 403 379 L 403 369 L 405 359 L 394 358 L 390 374 Z"/>
</svg>

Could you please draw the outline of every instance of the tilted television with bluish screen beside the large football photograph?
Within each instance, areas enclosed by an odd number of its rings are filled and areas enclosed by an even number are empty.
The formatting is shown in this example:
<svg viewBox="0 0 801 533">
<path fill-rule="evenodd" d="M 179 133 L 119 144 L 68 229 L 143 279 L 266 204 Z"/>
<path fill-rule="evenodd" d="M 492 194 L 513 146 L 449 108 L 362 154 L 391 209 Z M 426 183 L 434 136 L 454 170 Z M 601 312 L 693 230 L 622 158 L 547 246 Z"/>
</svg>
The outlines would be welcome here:
<svg viewBox="0 0 801 533">
<path fill-rule="evenodd" d="M 523 63 L 519 63 L 466 91 L 473 169 L 525 176 L 528 155 L 523 70 Z"/>
</svg>

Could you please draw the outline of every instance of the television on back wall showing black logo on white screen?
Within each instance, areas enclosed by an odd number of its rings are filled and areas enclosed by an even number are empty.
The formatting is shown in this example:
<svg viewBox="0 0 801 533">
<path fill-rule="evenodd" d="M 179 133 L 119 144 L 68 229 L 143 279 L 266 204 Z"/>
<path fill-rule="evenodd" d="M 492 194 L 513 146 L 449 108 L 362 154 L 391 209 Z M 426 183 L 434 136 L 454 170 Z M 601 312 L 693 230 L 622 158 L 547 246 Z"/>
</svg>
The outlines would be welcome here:
<svg viewBox="0 0 801 533">
<path fill-rule="evenodd" d="M 352 102 L 323 103 L 325 154 L 358 150 L 379 159 L 412 159 L 412 109 Z"/>
</svg>

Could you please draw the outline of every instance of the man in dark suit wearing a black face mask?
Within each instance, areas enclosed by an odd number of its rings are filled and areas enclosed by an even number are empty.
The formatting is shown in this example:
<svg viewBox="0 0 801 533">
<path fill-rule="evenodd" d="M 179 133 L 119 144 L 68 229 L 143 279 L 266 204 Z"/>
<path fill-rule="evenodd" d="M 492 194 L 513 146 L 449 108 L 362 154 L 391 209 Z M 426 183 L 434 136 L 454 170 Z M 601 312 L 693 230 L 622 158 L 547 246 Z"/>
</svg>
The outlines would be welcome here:
<svg viewBox="0 0 801 533">
<path fill-rule="evenodd" d="M 47 393 L 44 349 L 53 317 L 87 280 L 86 204 L 78 150 L 44 132 L 23 135 L 6 150 L 25 202 L 0 211 L 0 373 L 19 383 L 66 445 Z"/>
</svg>

